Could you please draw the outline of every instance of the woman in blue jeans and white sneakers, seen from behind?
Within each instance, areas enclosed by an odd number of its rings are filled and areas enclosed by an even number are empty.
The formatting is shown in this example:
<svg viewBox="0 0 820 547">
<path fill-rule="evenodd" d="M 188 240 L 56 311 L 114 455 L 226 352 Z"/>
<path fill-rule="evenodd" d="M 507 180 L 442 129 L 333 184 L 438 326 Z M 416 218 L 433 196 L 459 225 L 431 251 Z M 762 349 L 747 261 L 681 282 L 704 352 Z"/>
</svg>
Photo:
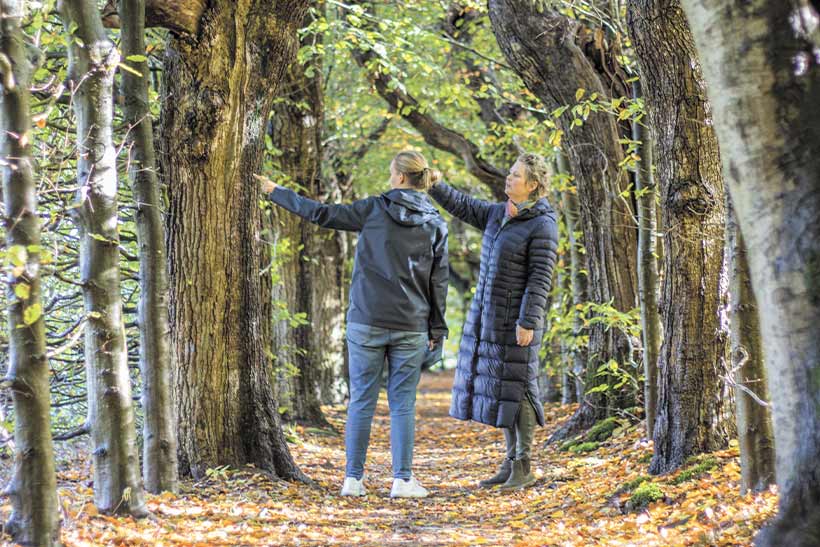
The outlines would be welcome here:
<svg viewBox="0 0 820 547">
<path fill-rule="evenodd" d="M 390 162 L 392 189 L 350 205 L 319 203 L 258 177 L 268 199 L 280 207 L 319 226 L 359 232 L 347 312 L 350 403 L 343 496 L 365 494 L 364 463 L 385 358 L 394 477 L 390 495 L 428 494 L 411 465 L 422 361 L 447 336 L 447 225 L 423 192 L 437 176 L 424 156 L 401 152 Z"/>
</svg>

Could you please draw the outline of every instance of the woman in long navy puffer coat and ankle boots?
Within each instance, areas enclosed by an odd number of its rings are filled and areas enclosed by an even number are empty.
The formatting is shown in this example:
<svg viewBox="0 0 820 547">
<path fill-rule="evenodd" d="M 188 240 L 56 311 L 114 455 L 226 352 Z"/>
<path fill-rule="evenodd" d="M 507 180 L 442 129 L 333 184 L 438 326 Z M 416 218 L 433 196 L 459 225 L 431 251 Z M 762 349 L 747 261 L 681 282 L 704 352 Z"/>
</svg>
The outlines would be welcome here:
<svg viewBox="0 0 820 547">
<path fill-rule="evenodd" d="M 489 203 L 444 183 L 430 195 L 484 237 L 475 297 L 464 322 L 450 415 L 504 429 L 506 457 L 483 487 L 535 482 L 530 447 L 538 398 L 538 350 L 558 247 L 556 215 L 543 196 L 549 183 L 541 156 L 523 154 L 510 169 L 509 200 Z"/>
</svg>

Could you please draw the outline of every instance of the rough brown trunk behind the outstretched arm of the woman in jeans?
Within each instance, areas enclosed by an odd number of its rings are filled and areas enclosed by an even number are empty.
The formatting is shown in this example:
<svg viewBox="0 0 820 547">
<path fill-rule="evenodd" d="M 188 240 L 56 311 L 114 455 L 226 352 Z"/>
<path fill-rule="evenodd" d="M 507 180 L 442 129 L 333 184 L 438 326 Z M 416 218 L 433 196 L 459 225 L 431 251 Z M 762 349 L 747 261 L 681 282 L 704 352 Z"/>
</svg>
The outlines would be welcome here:
<svg viewBox="0 0 820 547">
<path fill-rule="evenodd" d="M 313 66 L 309 76 L 304 66 L 294 63 L 274 107 L 271 139 L 282 151 L 277 158 L 279 169 L 304 187 L 308 197 L 335 201 L 340 197 L 338 189 L 322 173 L 323 127 L 321 66 Z M 280 209 L 274 213 L 278 220 L 274 228 L 288 227 L 294 249 L 301 247 L 282 265 L 281 290 L 283 296 L 291 296 L 285 301 L 288 310 L 305 313 L 308 322 L 297 328 L 275 327 L 281 331 L 277 338 L 289 346 L 286 350 L 277 344 L 275 353 L 287 354 L 296 368 L 296 375 L 287 378 L 289 397 L 282 403 L 289 418 L 326 426 L 321 404 L 341 402 L 346 392 L 342 370 L 345 301 L 339 275 L 345 260 L 340 245 L 343 235 Z"/>
</svg>

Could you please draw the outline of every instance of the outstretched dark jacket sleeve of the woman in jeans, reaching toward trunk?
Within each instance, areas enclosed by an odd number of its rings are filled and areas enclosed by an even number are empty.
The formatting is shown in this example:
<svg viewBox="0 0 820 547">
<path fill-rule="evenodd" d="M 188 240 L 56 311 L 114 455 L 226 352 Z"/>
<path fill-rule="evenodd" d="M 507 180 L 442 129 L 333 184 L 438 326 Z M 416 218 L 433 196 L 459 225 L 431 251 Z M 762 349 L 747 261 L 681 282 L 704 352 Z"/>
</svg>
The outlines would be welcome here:
<svg viewBox="0 0 820 547">
<path fill-rule="evenodd" d="M 349 232 L 357 232 L 364 227 L 373 206 L 373 198 L 354 201 L 350 205 L 319 203 L 281 186 L 268 194 L 268 199 L 308 222 Z"/>
</svg>

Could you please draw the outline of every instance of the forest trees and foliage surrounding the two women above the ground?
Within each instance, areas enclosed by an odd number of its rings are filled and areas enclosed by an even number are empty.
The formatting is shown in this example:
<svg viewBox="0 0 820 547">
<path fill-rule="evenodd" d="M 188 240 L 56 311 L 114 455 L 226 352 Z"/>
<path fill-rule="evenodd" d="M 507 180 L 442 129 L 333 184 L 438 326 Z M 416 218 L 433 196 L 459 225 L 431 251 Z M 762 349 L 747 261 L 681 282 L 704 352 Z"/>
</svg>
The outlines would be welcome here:
<svg viewBox="0 0 820 547">
<path fill-rule="evenodd" d="M 551 444 L 643 427 L 654 475 L 737 438 L 739 489 L 777 471 L 762 544 L 815 544 L 818 12 L 747 4 L 2 2 L 8 530 L 56 537 L 49 431 L 90 435 L 103 513 L 179 472 L 309 481 L 287 438 L 345 400 L 354 239 L 252 175 L 346 202 L 413 148 L 493 200 L 554 163 Z M 445 362 L 479 251 L 451 219 Z"/>
</svg>

